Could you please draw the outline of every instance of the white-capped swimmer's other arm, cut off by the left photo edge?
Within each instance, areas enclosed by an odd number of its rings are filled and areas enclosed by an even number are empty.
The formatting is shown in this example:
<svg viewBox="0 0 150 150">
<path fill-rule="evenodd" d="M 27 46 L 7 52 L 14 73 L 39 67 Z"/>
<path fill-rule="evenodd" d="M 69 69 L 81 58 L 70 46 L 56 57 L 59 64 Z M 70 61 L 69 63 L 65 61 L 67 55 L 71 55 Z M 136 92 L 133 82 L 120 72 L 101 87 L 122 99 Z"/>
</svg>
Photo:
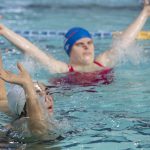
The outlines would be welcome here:
<svg viewBox="0 0 150 150">
<path fill-rule="evenodd" d="M 3 68 L 3 64 L 2 64 L 2 57 L 0 54 L 0 69 L 2 68 Z M 9 112 L 5 81 L 3 81 L 2 79 L 0 79 L 0 111 L 5 113 Z"/>
</svg>

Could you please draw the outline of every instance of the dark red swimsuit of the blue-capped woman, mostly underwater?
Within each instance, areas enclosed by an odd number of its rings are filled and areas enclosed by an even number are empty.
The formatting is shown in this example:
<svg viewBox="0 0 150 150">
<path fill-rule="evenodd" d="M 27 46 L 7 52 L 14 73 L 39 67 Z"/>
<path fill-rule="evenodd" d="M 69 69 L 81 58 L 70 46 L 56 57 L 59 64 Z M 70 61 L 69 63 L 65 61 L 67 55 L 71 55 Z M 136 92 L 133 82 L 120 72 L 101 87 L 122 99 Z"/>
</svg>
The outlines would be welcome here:
<svg viewBox="0 0 150 150">
<path fill-rule="evenodd" d="M 94 61 L 95 64 L 104 67 L 99 62 Z M 54 85 L 80 85 L 91 86 L 97 84 L 110 84 L 113 81 L 112 68 L 104 68 L 104 70 L 95 72 L 77 72 L 72 66 L 68 66 L 69 72 L 60 78 L 50 80 Z"/>
</svg>

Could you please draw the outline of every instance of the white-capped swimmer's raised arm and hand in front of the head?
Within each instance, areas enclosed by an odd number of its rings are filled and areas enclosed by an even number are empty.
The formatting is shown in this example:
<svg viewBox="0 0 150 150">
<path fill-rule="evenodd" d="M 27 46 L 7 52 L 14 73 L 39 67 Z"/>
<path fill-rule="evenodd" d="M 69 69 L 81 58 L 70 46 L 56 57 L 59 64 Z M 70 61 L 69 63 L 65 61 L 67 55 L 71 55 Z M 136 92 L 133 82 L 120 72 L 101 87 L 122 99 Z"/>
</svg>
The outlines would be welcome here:
<svg viewBox="0 0 150 150">
<path fill-rule="evenodd" d="M 32 79 L 28 72 L 21 64 L 17 64 L 19 74 L 0 69 L 0 78 L 9 83 L 18 84 L 23 87 L 26 95 L 26 107 L 28 126 L 30 132 L 35 136 L 44 136 L 48 130 L 48 121 L 45 119 L 45 114 L 38 101 Z"/>
</svg>

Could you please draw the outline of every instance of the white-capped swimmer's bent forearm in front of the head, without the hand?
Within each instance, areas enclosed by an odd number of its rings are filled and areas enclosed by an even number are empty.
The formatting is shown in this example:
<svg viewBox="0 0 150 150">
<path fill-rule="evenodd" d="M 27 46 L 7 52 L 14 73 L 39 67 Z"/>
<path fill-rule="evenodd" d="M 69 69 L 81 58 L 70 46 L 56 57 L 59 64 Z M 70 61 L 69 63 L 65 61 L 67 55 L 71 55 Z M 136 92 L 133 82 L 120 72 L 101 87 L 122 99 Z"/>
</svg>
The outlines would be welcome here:
<svg viewBox="0 0 150 150">
<path fill-rule="evenodd" d="M 24 85 L 27 102 L 27 115 L 29 117 L 29 129 L 32 134 L 40 136 L 46 134 L 48 123 L 45 119 L 44 112 L 40 107 L 33 83 Z"/>
</svg>

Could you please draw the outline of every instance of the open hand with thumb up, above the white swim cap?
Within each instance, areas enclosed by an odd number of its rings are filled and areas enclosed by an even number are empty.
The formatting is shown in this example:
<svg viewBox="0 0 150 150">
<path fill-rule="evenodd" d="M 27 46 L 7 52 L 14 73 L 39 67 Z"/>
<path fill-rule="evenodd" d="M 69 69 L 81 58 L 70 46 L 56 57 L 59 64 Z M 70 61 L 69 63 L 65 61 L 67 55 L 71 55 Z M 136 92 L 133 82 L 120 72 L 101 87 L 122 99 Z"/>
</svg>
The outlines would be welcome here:
<svg viewBox="0 0 150 150">
<path fill-rule="evenodd" d="M 0 64 L 1 63 L 2 62 L 0 62 Z M 10 71 L 4 70 L 2 67 L 0 67 L 0 78 L 6 82 L 18 84 L 21 86 L 32 83 L 32 79 L 30 75 L 28 74 L 28 72 L 23 67 L 23 65 L 21 65 L 20 63 L 17 63 L 17 67 L 19 69 L 18 75 Z"/>
</svg>

